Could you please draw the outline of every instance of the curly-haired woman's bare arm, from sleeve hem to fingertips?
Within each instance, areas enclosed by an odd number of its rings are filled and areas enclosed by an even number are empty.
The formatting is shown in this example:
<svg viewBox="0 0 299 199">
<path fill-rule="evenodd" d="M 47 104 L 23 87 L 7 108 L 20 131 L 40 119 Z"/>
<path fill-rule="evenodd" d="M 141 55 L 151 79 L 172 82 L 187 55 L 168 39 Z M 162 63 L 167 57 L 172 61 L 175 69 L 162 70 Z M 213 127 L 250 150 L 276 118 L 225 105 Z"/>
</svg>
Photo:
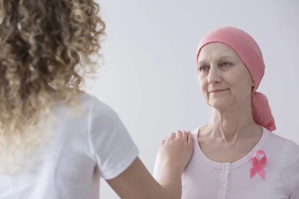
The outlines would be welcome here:
<svg viewBox="0 0 299 199">
<path fill-rule="evenodd" d="M 108 184 L 122 199 L 180 199 L 181 175 L 193 151 L 191 133 L 177 132 L 163 140 L 159 148 L 160 171 L 157 181 L 137 158 L 121 175 Z"/>
</svg>

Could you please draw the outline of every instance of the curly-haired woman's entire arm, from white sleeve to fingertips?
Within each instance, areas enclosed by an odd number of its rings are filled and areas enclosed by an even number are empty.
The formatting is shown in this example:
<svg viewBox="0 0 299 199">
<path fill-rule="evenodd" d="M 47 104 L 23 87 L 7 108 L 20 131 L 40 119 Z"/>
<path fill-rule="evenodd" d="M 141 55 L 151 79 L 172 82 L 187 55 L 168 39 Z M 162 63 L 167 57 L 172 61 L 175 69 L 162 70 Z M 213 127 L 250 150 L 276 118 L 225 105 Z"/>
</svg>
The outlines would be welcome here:
<svg viewBox="0 0 299 199">
<path fill-rule="evenodd" d="M 193 152 L 191 133 L 171 133 L 161 142 L 159 184 L 138 158 L 139 151 L 117 113 L 97 100 L 92 103 L 89 143 L 101 177 L 122 199 L 180 199 L 181 174 Z"/>
</svg>

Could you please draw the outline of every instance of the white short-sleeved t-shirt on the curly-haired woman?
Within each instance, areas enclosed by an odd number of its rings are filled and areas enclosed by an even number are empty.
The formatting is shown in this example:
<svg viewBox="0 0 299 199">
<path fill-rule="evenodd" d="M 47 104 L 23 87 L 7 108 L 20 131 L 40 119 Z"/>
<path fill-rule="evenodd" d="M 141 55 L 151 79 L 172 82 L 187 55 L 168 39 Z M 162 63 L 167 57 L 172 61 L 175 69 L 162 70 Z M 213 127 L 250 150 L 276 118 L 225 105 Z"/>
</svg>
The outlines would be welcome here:
<svg viewBox="0 0 299 199">
<path fill-rule="evenodd" d="M 99 199 L 100 178 L 126 170 L 139 151 L 108 105 L 82 96 L 84 116 L 55 108 L 54 136 L 39 161 L 17 175 L 0 173 L 0 199 Z"/>
</svg>

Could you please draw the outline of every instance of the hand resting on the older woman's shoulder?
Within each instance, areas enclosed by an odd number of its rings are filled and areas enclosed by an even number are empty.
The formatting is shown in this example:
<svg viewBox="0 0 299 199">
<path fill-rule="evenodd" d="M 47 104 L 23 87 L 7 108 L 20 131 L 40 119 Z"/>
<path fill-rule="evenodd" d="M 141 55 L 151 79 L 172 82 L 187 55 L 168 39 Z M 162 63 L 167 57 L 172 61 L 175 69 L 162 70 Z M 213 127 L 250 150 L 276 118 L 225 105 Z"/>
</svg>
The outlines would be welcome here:
<svg viewBox="0 0 299 199">
<path fill-rule="evenodd" d="M 190 131 L 170 133 L 159 147 L 159 156 L 162 165 L 177 167 L 183 171 L 189 163 L 193 153 L 193 136 Z"/>
</svg>

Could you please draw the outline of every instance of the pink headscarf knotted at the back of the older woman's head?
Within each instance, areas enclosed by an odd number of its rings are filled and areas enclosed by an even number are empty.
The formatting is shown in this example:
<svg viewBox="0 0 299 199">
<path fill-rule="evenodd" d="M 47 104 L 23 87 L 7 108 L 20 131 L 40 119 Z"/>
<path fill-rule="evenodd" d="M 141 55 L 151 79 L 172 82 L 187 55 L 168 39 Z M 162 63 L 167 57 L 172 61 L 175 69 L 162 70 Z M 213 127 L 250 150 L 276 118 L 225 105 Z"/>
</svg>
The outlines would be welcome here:
<svg viewBox="0 0 299 199">
<path fill-rule="evenodd" d="M 257 42 L 245 31 L 234 27 L 222 27 L 208 32 L 199 42 L 196 63 L 200 50 L 208 43 L 220 42 L 231 47 L 247 67 L 255 87 L 252 90 L 252 115 L 254 121 L 270 131 L 276 130 L 267 97 L 256 92 L 265 73 L 263 55 Z"/>
</svg>

